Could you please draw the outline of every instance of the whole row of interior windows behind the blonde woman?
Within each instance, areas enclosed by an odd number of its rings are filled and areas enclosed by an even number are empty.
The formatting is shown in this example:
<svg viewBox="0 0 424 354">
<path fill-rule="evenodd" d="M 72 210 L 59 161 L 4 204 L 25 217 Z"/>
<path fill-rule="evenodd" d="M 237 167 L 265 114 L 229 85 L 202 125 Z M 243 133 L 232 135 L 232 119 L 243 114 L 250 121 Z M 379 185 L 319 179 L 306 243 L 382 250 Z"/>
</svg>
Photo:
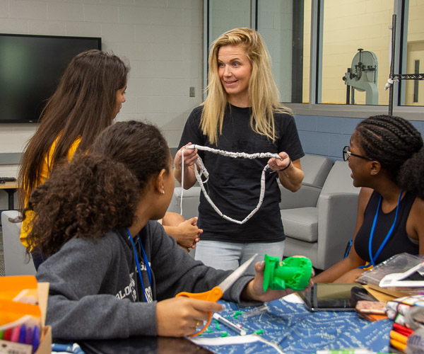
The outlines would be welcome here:
<svg viewBox="0 0 424 354">
<path fill-rule="evenodd" d="M 399 23 L 394 74 L 424 73 L 423 0 L 204 1 L 208 45 L 230 28 L 256 28 L 271 54 L 281 101 L 309 103 L 295 105 L 298 110 L 314 110 L 315 103 L 337 104 L 356 116 L 353 105 L 389 105 L 384 86 L 390 74 L 394 13 Z M 423 80 L 394 84 L 395 110 L 399 105 L 424 105 Z M 334 114 L 334 108 L 320 107 Z"/>
</svg>

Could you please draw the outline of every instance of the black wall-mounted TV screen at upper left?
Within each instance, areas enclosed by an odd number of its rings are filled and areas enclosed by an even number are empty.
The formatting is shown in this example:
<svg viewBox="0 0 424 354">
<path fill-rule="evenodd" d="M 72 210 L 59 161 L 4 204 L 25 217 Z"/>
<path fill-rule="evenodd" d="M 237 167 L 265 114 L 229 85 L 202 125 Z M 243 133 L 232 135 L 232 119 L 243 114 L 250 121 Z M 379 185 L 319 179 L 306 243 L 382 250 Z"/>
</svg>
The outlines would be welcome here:
<svg viewBox="0 0 424 354">
<path fill-rule="evenodd" d="M 71 59 L 101 38 L 0 33 L 0 122 L 38 122 Z"/>
</svg>

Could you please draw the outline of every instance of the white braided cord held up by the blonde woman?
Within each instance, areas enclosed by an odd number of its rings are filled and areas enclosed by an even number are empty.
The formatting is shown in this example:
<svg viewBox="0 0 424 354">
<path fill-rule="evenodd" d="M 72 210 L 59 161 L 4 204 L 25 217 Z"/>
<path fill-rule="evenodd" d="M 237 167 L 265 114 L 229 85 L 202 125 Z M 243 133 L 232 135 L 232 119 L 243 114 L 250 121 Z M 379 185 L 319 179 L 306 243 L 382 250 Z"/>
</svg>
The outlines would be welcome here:
<svg viewBox="0 0 424 354">
<path fill-rule="evenodd" d="M 201 145 L 188 145 L 187 147 L 185 147 L 184 149 L 182 149 L 181 151 L 181 200 L 180 200 L 180 211 L 182 214 L 182 194 L 183 194 L 183 190 L 184 190 L 184 150 L 185 149 L 199 149 L 199 150 L 204 150 L 206 152 L 212 152 L 213 154 L 220 154 L 223 156 L 228 156 L 228 157 L 232 157 L 232 158 L 237 158 L 237 157 L 242 157 L 244 159 L 263 159 L 263 158 L 275 158 L 275 159 L 281 159 L 280 156 L 278 156 L 278 154 L 272 154 L 271 152 L 258 152 L 257 154 L 246 154 L 245 152 L 225 152 L 223 150 L 219 150 L 219 149 L 212 149 L 211 147 L 202 147 Z M 268 164 L 266 164 L 264 166 L 264 169 L 262 170 L 262 174 L 261 174 L 261 193 L 259 195 L 259 202 L 257 204 L 257 206 L 254 208 L 254 210 L 252 210 L 252 212 L 249 213 L 249 215 L 247 215 L 247 217 L 245 217 L 245 219 L 240 220 L 236 220 L 236 219 L 232 219 L 231 217 L 228 217 L 227 215 L 224 215 L 223 212 L 221 212 L 218 207 L 215 205 L 215 203 L 211 200 L 211 198 L 209 197 L 208 193 L 206 192 L 206 188 L 204 186 L 204 184 L 208 181 L 209 178 L 209 173 L 206 170 L 206 167 L 203 164 L 203 161 L 201 160 L 200 156 L 197 158 L 196 162 L 194 163 L 194 175 L 196 176 L 196 180 L 199 182 L 199 185 L 201 187 L 202 192 L 204 193 L 204 196 L 206 198 L 206 200 L 208 200 L 209 204 L 211 205 L 211 207 L 213 207 L 213 210 L 215 210 L 218 215 L 220 215 L 220 217 L 223 217 L 224 219 L 230 221 L 230 222 L 235 222 L 236 224 L 244 224 L 245 222 L 247 222 L 247 220 L 249 220 L 255 212 L 257 212 L 259 210 L 259 207 L 261 207 L 262 202 L 264 201 L 264 195 L 265 195 L 265 173 L 266 173 L 266 169 L 269 169 L 270 167 L 268 166 Z M 199 171 L 197 171 L 197 166 L 199 167 Z M 205 176 L 206 180 L 202 181 L 201 176 Z"/>
</svg>

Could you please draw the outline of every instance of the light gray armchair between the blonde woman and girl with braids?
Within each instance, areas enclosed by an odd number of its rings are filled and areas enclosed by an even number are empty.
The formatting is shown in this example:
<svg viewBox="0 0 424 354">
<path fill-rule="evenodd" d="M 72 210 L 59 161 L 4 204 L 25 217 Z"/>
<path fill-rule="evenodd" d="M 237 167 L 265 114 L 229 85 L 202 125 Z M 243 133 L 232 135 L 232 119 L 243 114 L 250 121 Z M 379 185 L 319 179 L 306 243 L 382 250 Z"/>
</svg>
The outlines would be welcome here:
<svg viewBox="0 0 424 354">
<path fill-rule="evenodd" d="M 355 231 L 359 189 L 347 162 L 336 161 L 316 204 L 281 210 L 284 256 L 306 256 L 321 270 L 340 261 Z"/>
</svg>

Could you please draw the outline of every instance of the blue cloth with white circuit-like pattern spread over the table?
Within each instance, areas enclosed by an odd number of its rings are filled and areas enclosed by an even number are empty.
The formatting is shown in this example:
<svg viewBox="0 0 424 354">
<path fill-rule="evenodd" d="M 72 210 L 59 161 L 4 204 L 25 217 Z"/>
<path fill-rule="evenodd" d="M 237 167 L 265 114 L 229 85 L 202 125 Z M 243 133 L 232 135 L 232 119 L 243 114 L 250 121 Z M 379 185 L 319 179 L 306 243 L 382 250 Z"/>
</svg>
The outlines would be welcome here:
<svg viewBox="0 0 424 354">
<path fill-rule="evenodd" d="M 231 302 L 220 303 L 225 306 L 221 316 L 234 324 L 241 324 L 247 334 L 259 331 L 259 336 L 276 344 L 285 354 L 311 354 L 319 349 L 340 348 L 389 350 L 389 332 L 393 324 L 389 319 L 370 322 L 355 312 L 310 312 L 304 304 L 283 299 L 267 303 L 260 313 L 255 307 L 240 309 Z M 237 334 L 212 321 L 208 331 L 195 338 L 221 336 Z M 202 346 L 214 353 L 277 353 L 275 348 L 261 342 Z"/>
</svg>

